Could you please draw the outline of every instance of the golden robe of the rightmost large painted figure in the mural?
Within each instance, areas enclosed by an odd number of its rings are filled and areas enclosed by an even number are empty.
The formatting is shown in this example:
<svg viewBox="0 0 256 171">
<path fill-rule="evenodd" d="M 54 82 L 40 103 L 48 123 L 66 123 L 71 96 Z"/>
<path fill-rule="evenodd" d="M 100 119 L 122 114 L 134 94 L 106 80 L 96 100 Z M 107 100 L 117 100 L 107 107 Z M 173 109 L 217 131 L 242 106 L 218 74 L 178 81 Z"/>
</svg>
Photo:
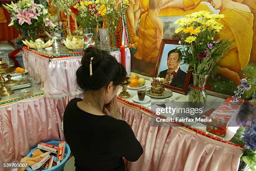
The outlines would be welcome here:
<svg viewBox="0 0 256 171">
<path fill-rule="evenodd" d="M 229 39 L 233 42 L 229 51 L 224 54 L 220 66 L 232 71 L 240 72 L 249 60 L 253 37 L 253 15 L 233 8 L 220 11 L 224 14 L 221 23 L 224 27 L 220 31 L 219 40 Z"/>
</svg>

